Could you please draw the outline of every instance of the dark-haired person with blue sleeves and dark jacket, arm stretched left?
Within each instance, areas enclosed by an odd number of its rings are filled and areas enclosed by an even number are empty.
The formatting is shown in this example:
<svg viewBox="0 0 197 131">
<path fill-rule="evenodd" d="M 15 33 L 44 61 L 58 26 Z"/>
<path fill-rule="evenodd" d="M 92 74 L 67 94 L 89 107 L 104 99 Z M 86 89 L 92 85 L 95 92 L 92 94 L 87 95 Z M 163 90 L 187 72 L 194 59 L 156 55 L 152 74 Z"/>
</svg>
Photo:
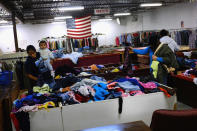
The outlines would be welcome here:
<svg viewBox="0 0 197 131">
<path fill-rule="evenodd" d="M 153 61 L 158 61 L 159 63 L 158 70 L 155 78 L 159 83 L 166 85 L 167 76 L 168 73 L 170 72 L 168 68 L 169 69 L 178 68 L 176 57 L 167 44 L 159 42 L 159 38 L 156 35 L 150 37 L 149 45 L 150 46 L 146 47 L 145 49 L 132 49 L 132 48 L 130 49 L 136 54 L 141 54 L 141 55 L 149 54 L 150 67 Z M 153 74 L 152 68 L 150 68 L 150 72 L 151 74 Z"/>
</svg>

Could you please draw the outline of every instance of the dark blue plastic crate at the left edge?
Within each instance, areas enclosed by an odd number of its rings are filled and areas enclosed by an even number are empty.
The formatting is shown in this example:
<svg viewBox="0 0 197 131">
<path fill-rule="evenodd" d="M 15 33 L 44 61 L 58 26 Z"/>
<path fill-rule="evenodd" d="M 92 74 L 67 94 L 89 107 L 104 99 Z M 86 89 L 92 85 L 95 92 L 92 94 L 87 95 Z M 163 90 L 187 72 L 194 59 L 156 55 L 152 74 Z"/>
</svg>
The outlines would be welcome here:
<svg viewBox="0 0 197 131">
<path fill-rule="evenodd" d="M 4 71 L 0 72 L 0 85 L 6 86 L 12 82 L 13 79 L 13 72 L 11 71 Z"/>
</svg>

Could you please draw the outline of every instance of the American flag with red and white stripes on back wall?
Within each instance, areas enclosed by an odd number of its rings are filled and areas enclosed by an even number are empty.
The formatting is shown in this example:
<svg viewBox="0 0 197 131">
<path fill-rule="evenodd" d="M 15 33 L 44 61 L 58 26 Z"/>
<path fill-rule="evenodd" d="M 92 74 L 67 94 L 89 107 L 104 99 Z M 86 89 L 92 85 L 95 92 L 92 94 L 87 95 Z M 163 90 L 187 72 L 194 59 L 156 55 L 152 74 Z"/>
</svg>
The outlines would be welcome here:
<svg viewBox="0 0 197 131">
<path fill-rule="evenodd" d="M 66 19 L 67 36 L 74 39 L 84 39 L 92 36 L 91 16 Z"/>
</svg>

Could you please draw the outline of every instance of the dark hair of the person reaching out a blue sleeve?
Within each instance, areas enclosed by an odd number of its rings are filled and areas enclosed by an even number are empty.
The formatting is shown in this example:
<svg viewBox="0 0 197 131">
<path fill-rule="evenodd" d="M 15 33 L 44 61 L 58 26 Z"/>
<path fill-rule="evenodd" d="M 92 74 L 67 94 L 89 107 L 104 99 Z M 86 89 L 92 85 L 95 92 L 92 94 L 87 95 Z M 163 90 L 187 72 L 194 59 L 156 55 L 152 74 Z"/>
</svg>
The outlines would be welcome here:
<svg viewBox="0 0 197 131">
<path fill-rule="evenodd" d="M 153 52 L 157 49 L 159 45 L 159 36 L 157 34 L 152 34 L 149 38 L 149 45 Z"/>
</svg>

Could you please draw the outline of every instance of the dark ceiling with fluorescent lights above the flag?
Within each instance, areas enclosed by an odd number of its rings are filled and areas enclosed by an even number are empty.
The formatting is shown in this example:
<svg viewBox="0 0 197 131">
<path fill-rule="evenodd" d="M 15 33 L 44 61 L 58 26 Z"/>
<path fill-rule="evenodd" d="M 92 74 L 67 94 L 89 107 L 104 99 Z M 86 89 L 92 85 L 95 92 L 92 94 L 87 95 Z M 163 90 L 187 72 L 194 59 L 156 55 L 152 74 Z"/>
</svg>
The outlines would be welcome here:
<svg viewBox="0 0 197 131">
<path fill-rule="evenodd" d="M 191 0 L 163 0 L 164 6 Z M 11 13 L 22 23 L 53 22 L 57 16 L 92 15 L 93 19 L 113 17 L 114 13 L 148 11 L 152 8 L 141 8 L 140 3 L 161 2 L 159 0 L 1 0 L 0 19 L 11 21 Z M 60 7 L 84 6 L 82 11 L 60 11 Z M 110 9 L 107 15 L 95 15 L 94 9 Z"/>
</svg>

